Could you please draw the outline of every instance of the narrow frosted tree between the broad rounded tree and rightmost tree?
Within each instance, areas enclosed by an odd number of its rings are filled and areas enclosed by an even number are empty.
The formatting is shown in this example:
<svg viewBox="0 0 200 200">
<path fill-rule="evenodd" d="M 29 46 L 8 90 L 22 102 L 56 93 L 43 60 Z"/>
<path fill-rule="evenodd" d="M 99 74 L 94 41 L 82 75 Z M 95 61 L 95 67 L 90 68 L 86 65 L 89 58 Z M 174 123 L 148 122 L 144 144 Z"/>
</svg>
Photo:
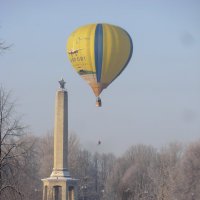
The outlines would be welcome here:
<svg viewBox="0 0 200 200">
<path fill-rule="evenodd" d="M 149 175 L 153 180 L 155 197 L 158 200 L 174 199 L 176 168 L 181 160 L 182 146 L 171 143 L 162 147 L 157 154 Z"/>
</svg>

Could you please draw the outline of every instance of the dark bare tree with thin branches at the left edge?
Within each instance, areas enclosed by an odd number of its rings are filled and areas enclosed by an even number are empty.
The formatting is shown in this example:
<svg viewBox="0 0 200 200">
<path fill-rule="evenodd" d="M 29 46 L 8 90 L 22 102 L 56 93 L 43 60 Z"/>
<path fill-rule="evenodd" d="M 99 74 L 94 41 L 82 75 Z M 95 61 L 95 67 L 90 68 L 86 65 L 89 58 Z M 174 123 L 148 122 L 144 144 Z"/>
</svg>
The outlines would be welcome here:
<svg viewBox="0 0 200 200">
<path fill-rule="evenodd" d="M 25 127 L 15 113 L 15 102 L 11 92 L 0 87 L 0 196 L 5 191 L 21 195 L 13 183 L 13 165 L 17 162 L 17 149 L 21 147 L 20 137 Z M 21 152 L 23 153 L 23 152 Z"/>
</svg>

